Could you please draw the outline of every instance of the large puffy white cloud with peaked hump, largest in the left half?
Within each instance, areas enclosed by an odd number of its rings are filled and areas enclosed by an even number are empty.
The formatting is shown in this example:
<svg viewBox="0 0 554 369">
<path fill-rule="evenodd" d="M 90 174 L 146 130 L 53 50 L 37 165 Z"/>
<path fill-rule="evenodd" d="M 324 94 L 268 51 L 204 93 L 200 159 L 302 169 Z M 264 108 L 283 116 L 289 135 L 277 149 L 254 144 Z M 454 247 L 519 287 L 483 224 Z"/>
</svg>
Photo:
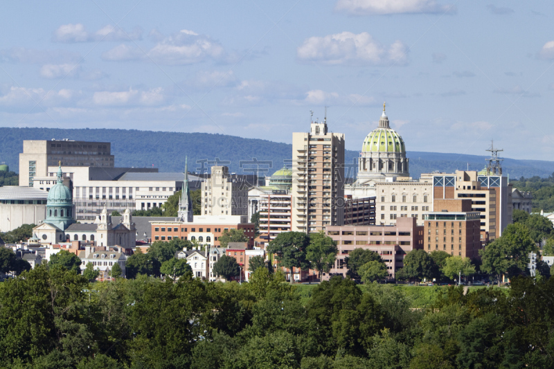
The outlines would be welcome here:
<svg viewBox="0 0 554 369">
<path fill-rule="evenodd" d="M 181 30 L 158 42 L 148 51 L 119 45 L 102 54 L 105 60 L 153 60 L 165 65 L 184 65 L 212 59 L 224 61 L 223 46 L 206 35 L 198 35 L 190 30 Z"/>
</svg>

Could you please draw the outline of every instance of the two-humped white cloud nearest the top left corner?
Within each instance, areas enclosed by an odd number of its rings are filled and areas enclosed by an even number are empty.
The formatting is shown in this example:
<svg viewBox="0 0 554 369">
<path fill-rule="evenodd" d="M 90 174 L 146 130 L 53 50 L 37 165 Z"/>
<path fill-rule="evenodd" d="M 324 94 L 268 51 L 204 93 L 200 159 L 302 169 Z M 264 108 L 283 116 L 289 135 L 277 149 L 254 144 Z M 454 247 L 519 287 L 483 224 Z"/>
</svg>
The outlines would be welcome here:
<svg viewBox="0 0 554 369">
<path fill-rule="evenodd" d="M 123 29 L 114 26 L 105 26 L 90 33 L 80 23 L 64 24 L 57 28 L 52 35 L 55 42 L 93 42 L 93 41 L 129 41 L 141 39 L 143 30 L 135 27 L 132 32 L 125 32 Z"/>
</svg>

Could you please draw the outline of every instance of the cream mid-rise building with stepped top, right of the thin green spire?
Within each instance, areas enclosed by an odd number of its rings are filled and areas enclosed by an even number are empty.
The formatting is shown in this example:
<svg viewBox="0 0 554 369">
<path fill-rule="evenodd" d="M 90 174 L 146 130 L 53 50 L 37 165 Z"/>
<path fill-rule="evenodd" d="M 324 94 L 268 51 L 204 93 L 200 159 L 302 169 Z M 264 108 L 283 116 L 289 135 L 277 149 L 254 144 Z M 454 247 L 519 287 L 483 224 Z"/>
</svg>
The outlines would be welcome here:
<svg viewBox="0 0 554 369">
<path fill-rule="evenodd" d="M 248 215 L 248 186 L 233 181 L 229 168 L 214 165 L 202 183 L 202 215 Z"/>
</svg>

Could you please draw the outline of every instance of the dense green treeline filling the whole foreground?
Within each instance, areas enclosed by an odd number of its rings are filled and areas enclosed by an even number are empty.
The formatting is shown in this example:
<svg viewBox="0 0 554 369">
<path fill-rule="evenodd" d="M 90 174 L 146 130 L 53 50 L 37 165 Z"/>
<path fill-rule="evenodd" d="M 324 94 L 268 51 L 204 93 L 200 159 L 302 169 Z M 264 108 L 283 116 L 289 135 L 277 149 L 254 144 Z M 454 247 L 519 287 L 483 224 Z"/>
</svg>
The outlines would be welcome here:
<svg viewBox="0 0 554 369">
<path fill-rule="evenodd" d="M 265 268 L 239 285 L 38 267 L 0 285 L 0 367 L 551 368 L 554 279 L 449 287 L 416 310 L 350 279 L 310 295 Z"/>
</svg>

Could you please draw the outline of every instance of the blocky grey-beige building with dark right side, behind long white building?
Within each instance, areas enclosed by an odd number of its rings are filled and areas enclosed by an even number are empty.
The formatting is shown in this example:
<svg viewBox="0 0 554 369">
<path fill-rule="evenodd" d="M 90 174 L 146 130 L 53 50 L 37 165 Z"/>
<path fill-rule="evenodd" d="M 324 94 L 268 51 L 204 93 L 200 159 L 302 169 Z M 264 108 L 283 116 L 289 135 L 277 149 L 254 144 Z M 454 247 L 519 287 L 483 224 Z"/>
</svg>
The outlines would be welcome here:
<svg viewBox="0 0 554 369">
<path fill-rule="evenodd" d="M 23 141 L 19 154 L 19 186 L 33 187 L 35 177 L 46 177 L 48 167 L 114 167 L 109 142 Z"/>
</svg>

